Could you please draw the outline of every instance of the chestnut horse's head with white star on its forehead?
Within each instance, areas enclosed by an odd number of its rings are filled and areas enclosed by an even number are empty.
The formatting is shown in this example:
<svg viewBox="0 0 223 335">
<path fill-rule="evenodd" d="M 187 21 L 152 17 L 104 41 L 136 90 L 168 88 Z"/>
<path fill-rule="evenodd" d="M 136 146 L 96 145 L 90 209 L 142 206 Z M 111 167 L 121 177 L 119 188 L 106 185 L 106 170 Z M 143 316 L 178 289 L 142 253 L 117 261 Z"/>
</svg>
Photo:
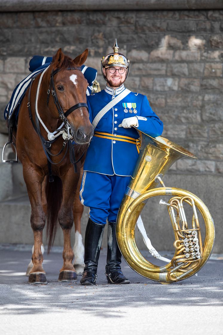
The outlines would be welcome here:
<svg viewBox="0 0 223 335">
<path fill-rule="evenodd" d="M 79 103 L 86 104 L 86 89 L 88 82 L 80 66 L 84 64 L 88 56 L 88 49 L 72 60 L 65 56 L 61 49 L 52 59 L 49 71 L 55 71 L 53 75 L 54 90 L 59 104 L 66 116 L 74 137 L 78 144 L 89 143 L 93 136 L 93 127 L 89 121 L 89 114 L 86 107 L 76 106 Z M 58 70 L 58 72 L 56 72 Z M 73 110 L 72 107 L 75 107 Z M 49 99 L 49 109 L 53 118 L 59 118 L 53 99 Z M 67 114 L 68 114 L 67 113 Z"/>
</svg>

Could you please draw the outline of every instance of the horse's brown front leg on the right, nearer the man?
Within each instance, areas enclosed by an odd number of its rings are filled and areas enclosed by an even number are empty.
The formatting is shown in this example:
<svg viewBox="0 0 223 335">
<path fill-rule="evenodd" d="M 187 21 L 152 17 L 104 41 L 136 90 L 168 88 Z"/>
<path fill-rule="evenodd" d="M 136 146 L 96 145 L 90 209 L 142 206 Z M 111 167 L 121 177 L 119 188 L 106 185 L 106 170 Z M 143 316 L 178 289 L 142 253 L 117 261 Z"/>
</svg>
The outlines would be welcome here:
<svg viewBox="0 0 223 335">
<path fill-rule="evenodd" d="M 60 270 L 58 281 L 77 281 L 77 272 L 72 265 L 74 258 L 74 252 L 71 248 L 71 229 L 73 226 L 73 214 L 72 206 L 74 202 L 74 178 L 78 178 L 78 175 L 74 177 L 73 166 L 66 176 L 62 178 L 63 183 L 63 200 L 61 209 L 59 211 L 58 220 L 63 229 L 64 233 L 64 251 L 63 259 L 64 264 Z"/>
</svg>

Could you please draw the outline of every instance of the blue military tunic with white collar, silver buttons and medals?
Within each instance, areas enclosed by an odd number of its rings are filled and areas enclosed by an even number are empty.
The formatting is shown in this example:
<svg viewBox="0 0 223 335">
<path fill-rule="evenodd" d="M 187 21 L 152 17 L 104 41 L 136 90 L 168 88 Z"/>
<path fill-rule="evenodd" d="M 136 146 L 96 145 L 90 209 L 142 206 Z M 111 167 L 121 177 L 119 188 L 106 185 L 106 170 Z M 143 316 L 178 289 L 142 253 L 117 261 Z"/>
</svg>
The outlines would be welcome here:
<svg viewBox="0 0 223 335">
<path fill-rule="evenodd" d="M 116 95 L 125 89 L 122 84 L 117 89 L 107 86 L 101 92 L 87 97 L 90 121 L 92 122 L 100 110 Z M 124 107 L 126 106 L 126 108 Z M 134 106 L 129 108 L 130 106 Z M 127 113 L 124 112 L 127 111 Z M 130 112 L 129 112 L 130 110 Z M 134 113 L 135 110 L 135 113 Z M 139 137 L 134 128 L 118 127 L 124 118 L 136 116 L 138 129 L 153 137 L 162 133 L 162 121 L 152 111 L 145 95 L 130 92 L 116 106 L 110 109 L 99 121 L 95 132 L 109 133 L 114 139 L 94 136 L 89 145 L 84 164 L 85 171 L 97 172 L 105 175 L 131 176 L 135 167 L 138 151 L 135 144 L 119 141 L 115 136 L 127 136 L 134 139 Z"/>
</svg>

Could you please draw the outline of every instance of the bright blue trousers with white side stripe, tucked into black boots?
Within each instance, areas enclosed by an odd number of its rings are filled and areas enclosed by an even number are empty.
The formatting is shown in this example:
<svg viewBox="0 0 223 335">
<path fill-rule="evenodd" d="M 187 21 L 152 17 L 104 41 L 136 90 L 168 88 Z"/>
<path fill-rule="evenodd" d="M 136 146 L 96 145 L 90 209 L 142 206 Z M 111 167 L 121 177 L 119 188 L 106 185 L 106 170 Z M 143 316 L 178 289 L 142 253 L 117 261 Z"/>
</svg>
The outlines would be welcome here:
<svg viewBox="0 0 223 335">
<path fill-rule="evenodd" d="M 98 224 L 116 222 L 118 210 L 131 177 L 108 176 L 84 171 L 81 203 L 89 207 L 89 217 Z"/>
</svg>

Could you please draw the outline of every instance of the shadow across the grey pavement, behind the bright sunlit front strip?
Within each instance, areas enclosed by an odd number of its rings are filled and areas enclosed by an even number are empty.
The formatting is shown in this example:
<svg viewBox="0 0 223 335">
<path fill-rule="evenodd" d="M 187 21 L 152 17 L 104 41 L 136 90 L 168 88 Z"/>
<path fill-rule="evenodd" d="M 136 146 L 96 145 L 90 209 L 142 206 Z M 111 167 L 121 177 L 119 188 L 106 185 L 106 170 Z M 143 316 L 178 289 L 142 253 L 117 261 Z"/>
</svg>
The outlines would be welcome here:
<svg viewBox="0 0 223 335">
<path fill-rule="evenodd" d="M 29 285 L 25 276 L 31 251 L 0 251 L 0 311 L 1 314 L 35 314 L 66 312 L 67 309 L 100 317 L 123 317 L 122 307 L 143 306 L 222 306 L 222 257 L 211 258 L 198 276 L 161 285 L 134 272 L 124 261 L 123 273 L 129 285 L 107 284 L 104 275 L 106 251 L 99 261 L 97 285 L 81 286 L 80 276 L 75 283 L 59 283 L 62 254 L 44 255 L 47 285 Z M 109 307 L 109 308 L 108 308 Z M 126 313 L 126 312 L 125 312 Z"/>
</svg>

